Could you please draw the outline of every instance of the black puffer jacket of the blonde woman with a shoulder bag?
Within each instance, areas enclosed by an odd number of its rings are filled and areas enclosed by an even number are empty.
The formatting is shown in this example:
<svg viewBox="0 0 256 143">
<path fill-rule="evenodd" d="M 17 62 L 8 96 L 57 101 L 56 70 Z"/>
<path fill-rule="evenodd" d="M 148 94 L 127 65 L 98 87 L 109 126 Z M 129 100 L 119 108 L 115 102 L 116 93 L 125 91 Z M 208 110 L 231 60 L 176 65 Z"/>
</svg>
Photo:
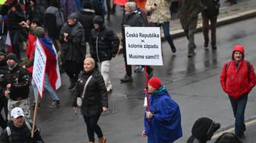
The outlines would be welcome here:
<svg viewBox="0 0 256 143">
<path fill-rule="evenodd" d="M 90 117 L 92 115 L 102 112 L 102 107 L 108 107 L 108 95 L 105 87 L 104 79 L 100 72 L 94 70 L 92 72 L 81 71 L 78 75 L 76 82 L 75 96 L 73 99 L 73 106 L 76 105 L 76 97 L 80 97 L 83 94 L 84 84 L 87 79 L 92 75 L 90 82 L 87 85 L 85 96 L 83 99 L 83 106 L 81 107 L 81 113 Z"/>
</svg>

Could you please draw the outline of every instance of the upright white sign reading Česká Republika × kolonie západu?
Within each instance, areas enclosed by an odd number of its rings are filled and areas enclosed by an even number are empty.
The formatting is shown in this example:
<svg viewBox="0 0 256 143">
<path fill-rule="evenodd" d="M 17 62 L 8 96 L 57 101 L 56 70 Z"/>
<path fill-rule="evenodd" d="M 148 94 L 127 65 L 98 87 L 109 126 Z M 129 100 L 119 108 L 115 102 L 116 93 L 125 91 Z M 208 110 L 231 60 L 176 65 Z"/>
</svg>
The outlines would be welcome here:
<svg viewBox="0 0 256 143">
<path fill-rule="evenodd" d="M 162 65 L 159 27 L 125 27 L 128 65 Z"/>
</svg>

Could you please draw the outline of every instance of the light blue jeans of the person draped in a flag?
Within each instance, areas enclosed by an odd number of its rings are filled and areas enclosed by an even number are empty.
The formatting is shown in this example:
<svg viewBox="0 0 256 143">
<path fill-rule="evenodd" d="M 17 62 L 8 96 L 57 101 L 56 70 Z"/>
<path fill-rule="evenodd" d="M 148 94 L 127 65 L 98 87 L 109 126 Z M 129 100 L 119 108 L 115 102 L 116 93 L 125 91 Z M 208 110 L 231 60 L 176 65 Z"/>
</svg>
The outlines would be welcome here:
<svg viewBox="0 0 256 143">
<path fill-rule="evenodd" d="M 37 99 L 37 85 L 34 83 L 34 81 L 32 80 L 31 85 L 33 86 L 34 89 L 34 101 Z M 48 92 L 50 92 L 52 99 L 54 100 L 59 100 L 59 97 L 57 96 L 56 92 L 54 91 L 54 89 L 52 89 L 52 85 L 49 81 L 48 75 L 45 74 L 44 75 L 44 88 L 48 90 Z M 38 100 L 39 103 L 39 100 Z"/>
</svg>

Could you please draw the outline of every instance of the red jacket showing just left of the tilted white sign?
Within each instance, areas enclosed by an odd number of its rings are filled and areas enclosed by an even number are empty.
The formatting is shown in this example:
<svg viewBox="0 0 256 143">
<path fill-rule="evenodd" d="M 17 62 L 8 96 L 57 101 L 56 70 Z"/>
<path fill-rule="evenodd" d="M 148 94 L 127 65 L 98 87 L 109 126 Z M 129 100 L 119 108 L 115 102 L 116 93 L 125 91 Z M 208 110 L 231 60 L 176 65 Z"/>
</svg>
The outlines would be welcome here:
<svg viewBox="0 0 256 143">
<path fill-rule="evenodd" d="M 34 35 L 32 33 L 28 34 L 27 52 L 26 52 L 28 61 L 30 61 L 34 57 L 36 40 L 37 40 L 37 37 L 34 37 Z M 27 68 L 27 71 L 32 73 L 33 66 L 31 66 L 30 68 Z"/>
</svg>

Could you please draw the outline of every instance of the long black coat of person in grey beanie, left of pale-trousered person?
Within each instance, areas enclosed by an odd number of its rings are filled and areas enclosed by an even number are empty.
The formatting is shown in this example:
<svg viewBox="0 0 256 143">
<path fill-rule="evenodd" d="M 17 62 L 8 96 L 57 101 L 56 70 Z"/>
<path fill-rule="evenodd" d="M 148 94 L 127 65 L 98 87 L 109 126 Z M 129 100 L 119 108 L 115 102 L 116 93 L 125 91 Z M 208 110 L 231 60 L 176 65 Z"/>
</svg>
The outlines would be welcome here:
<svg viewBox="0 0 256 143">
<path fill-rule="evenodd" d="M 67 42 L 64 41 L 64 33 L 69 33 Z M 86 44 L 84 40 L 84 28 L 77 20 L 74 25 L 64 23 L 59 33 L 59 41 L 62 44 L 62 64 L 65 61 L 83 62 L 86 54 Z"/>
</svg>

